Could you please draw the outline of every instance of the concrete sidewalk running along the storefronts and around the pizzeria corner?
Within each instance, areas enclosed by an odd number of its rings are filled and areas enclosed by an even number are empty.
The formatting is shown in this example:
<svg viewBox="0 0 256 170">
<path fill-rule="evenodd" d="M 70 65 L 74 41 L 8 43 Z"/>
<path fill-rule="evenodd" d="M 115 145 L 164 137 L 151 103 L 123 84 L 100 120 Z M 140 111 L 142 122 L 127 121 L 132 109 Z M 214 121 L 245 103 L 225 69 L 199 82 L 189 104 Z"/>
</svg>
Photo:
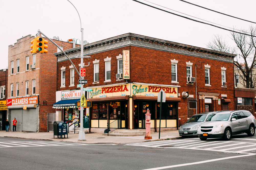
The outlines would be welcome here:
<svg viewBox="0 0 256 170">
<path fill-rule="evenodd" d="M 145 142 L 145 141 L 153 141 L 153 140 L 164 140 L 164 139 L 177 139 L 180 138 L 178 130 L 170 130 L 154 132 L 151 134 L 151 140 L 145 140 L 145 135 L 142 136 L 105 136 L 98 133 L 86 133 L 85 139 L 86 141 L 78 141 L 78 133 L 73 134 L 69 133 L 68 138 L 58 139 L 57 136 L 54 136 L 54 133 L 50 132 L 5 132 L 4 130 L 0 130 L 0 137 L 11 137 L 11 138 L 22 138 L 22 139 L 36 139 L 36 140 L 48 140 L 48 141 L 62 141 L 62 142 L 79 142 L 79 143 L 137 143 L 137 142 Z M 55 137 L 55 138 L 54 138 Z"/>
</svg>

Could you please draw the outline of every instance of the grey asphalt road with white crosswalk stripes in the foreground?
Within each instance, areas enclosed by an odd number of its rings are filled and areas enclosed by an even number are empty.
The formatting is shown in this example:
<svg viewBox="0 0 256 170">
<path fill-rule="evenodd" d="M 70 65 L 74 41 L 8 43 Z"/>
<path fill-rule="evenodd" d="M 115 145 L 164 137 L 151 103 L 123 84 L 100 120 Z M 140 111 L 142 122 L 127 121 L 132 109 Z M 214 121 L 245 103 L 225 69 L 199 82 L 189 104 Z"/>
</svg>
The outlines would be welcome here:
<svg viewBox="0 0 256 170">
<path fill-rule="evenodd" d="M 256 140 L 245 135 L 233 137 L 229 143 L 221 139 L 188 138 L 128 145 L 1 137 L 0 169 L 255 169 Z M 252 150 L 236 153 L 241 149 Z"/>
</svg>

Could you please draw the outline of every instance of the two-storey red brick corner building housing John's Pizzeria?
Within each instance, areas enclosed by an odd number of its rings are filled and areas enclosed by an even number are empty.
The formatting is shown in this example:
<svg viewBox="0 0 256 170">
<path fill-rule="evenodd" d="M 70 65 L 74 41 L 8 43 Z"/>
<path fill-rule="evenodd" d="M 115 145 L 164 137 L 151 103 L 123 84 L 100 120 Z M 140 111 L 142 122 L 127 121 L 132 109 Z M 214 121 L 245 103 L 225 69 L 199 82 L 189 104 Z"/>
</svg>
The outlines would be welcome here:
<svg viewBox="0 0 256 170">
<path fill-rule="evenodd" d="M 78 51 L 79 47 L 67 50 L 77 69 L 81 63 L 76 58 Z M 71 63 L 62 53 L 55 55 L 56 101 L 66 98 L 68 93 L 73 99 L 74 91 L 80 89 L 79 76 L 73 74 Z M 157 95 L 161 89 L 166 93 L 161 130 L 177 129 L 196 113 L 236 110 L 233 76 L 236 55 L 133 33 L 84 45 L 84 55 L 91 56 L 84 59 L 85 65 L 91 62 L 85 67 L 87 87 L 92 88 L 87 94 L 92 101 L 91 132 L 103 133 L 113 124 L 118 128 L 145 128 L 147 109 L 151 113 L 151 130 L 158 131 Z M 56 113 L 59 120 L 78 114 L 74 100 L 60 103 L 67 105 L 54 105 L 59 110 Z"/>
</svg>

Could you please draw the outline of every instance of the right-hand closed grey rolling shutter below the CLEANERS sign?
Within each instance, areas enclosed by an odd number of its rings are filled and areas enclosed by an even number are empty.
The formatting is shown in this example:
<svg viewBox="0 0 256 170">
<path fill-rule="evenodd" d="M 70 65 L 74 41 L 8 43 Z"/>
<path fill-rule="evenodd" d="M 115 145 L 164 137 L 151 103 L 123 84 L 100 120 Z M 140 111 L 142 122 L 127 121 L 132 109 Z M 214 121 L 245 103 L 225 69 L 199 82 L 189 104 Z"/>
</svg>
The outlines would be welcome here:
<svg viewBox="0 0 256 170">
<path fill-rule="evenodd" d="M 36 109 L 22 110 L 22 131 L 36 132 Z"/>
</svg>

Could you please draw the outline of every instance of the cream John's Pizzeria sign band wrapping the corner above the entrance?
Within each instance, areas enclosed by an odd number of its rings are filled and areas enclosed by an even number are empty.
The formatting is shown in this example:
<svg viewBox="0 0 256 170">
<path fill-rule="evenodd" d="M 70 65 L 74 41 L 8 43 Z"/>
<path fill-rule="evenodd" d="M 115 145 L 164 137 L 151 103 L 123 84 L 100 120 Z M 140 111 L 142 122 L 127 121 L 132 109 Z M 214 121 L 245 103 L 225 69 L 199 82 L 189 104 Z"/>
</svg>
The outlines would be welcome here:
<svg viewBox="0 0 256 170">
<path fill-rule="evenodd" d="M 106 86 L 92 88 L 90 98 L 112 97 L 112 96 L 157 96 L 158 92 L 163 89 L 166 97 L 178 97 L 177 87 L 153 86 L 143 84 L 124 84 L 115 86 Z"/>
</svg>

